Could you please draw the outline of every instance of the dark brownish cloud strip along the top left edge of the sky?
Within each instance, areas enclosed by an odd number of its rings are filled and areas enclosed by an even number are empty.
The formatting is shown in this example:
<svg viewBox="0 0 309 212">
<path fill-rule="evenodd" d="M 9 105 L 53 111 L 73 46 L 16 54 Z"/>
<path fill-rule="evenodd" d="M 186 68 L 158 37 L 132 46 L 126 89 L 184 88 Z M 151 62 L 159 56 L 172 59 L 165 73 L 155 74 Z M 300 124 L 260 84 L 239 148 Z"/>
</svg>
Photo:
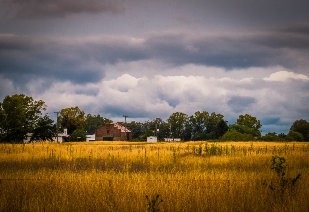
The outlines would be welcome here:
<svg viewBox="0 0 309 212">
<path fill-rule="evenodd" d="M 8 14 L 16 18 L 64 17 L 76 13 L 120 13 L 124 6 L 110 0 L 2 0 Z"/>
</svg>

